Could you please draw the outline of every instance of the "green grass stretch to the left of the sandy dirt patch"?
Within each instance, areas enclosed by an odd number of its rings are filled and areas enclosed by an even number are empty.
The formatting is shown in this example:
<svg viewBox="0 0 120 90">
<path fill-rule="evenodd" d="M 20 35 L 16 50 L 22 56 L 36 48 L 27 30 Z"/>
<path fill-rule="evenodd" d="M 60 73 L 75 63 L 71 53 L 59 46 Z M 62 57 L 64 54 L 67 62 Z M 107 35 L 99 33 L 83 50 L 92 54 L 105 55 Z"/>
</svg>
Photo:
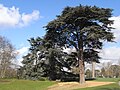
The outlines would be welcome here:
<svg viewBox="0 0 120 90">
<path fill-rule="evenodd" d="M 0 90 L 47 90 L 53 84 L 55 82 L 5 79 L 0 80 Z"/>
</svg>

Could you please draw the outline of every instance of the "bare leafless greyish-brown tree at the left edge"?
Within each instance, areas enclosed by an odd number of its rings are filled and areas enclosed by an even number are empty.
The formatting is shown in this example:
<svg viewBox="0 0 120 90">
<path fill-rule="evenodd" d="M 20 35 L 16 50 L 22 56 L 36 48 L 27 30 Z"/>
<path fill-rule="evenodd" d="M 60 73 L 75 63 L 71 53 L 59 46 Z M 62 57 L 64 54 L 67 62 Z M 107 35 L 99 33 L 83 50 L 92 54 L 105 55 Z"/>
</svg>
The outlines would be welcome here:
<svg viewBox="0 0 120 90">
<path fill-rule="evenodd" d="M 0 78 L 4 78 L 8 69 L 11 67 L 15 59 L 15 48 L 7 40 L 7 38 L 0 36 Z"/>
</svg>

